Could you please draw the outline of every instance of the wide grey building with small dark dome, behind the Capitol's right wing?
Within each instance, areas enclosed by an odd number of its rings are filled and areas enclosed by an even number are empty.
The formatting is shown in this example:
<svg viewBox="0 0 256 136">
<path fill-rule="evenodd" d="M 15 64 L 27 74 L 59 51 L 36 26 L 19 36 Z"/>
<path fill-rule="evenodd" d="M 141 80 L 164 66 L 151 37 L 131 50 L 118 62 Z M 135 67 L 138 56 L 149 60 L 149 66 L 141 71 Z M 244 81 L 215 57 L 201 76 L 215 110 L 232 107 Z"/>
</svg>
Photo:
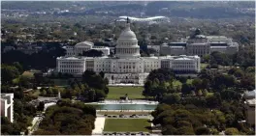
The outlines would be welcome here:
<svg viewBox="0 0 256 136">
<path fill-rule="evenodd" d="M 234 54 L 239 51 L 239 43 L 224 36 L 204 36 L 200 29 L 180 42 L 164 43 L 160 46 L 162 55 L 198 55 L 203 57 L 213 51 Z M 150 46 L 151 47 L 151 46 Z"/>
</svg>

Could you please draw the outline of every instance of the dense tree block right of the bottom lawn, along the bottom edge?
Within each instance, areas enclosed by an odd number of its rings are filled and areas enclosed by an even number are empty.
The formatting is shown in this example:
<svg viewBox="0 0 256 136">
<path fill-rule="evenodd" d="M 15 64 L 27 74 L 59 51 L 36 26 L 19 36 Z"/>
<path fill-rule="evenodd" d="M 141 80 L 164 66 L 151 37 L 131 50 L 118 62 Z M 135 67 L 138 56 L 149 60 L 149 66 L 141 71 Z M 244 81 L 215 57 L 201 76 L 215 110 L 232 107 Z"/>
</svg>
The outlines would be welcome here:
<svg viewBox="0 0 256 136">
<path fill-rule="evenodd" d="M 217 135 L 222 130 L 230 134 L 231 127 L 235 127 L 237 135 L 255 133 L 248 129 L 246 123 L 238 122 L 244 120 L 240 108 L 243 108 L 242 105 L 236 102 L 225 102 L 220 109 L 214 110 L 190 105 L 160 104 L 152 116 L 154 124 L 162 125 L 162 133 L 165 135 Z"/>
</svg>

